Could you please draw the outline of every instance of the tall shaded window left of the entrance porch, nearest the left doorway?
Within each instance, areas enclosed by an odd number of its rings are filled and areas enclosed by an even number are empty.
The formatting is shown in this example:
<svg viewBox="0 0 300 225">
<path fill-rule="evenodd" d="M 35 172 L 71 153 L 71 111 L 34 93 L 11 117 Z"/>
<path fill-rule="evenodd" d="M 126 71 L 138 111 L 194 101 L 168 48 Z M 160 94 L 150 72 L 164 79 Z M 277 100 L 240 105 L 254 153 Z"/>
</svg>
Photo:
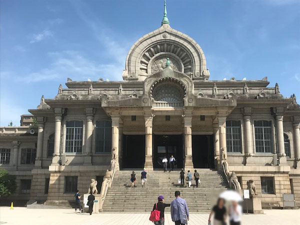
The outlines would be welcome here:
<svg viewBox="0 0 300 225">
<path fill-rule="evenodd" d="M 111 152 L 111 121 L 96 121 L 95 152 Z"/>
</svg>

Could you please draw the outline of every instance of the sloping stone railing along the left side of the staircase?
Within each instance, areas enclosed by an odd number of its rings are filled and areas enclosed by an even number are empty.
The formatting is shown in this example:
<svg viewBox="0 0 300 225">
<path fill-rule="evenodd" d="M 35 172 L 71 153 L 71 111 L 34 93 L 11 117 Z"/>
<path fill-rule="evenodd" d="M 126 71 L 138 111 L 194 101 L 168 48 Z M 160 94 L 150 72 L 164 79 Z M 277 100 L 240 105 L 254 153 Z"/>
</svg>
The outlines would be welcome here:
<svg viewBox="0 0 300 225">
<path fill-rule="evenodd" d="M 103 182 L 101 185 L 101 192 L 100 192 L 100 199 L 99 199 L 99 211 L 103 210 L 102 209 L 103 202 L 105 200 L 108 187 L 111 186 L 115 171 L 116 171 L 116 163 L 114 160 L 111 160 L 110 170 L 108 170 L 108 169 L 106 170 L 105 175 L 103 177 Z"/>
</svg>

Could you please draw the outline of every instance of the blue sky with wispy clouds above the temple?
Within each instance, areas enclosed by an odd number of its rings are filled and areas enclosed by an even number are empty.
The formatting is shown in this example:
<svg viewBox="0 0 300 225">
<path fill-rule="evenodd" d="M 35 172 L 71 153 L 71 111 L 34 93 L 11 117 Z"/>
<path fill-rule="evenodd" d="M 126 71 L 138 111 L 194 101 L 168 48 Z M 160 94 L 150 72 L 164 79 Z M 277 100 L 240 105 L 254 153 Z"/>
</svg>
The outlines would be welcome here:
<svg viewBox="0 0 300 225">
<path fill-rule="evenodd" d="M 278 82 L 300 101 L 300 0 L 167 0 L 170 26 L 199 43 L 210 79 Z M 53 98 L 67 77 L 121 80 L 163 0 L 0 0 L 0 125 Z"/>
</svg>

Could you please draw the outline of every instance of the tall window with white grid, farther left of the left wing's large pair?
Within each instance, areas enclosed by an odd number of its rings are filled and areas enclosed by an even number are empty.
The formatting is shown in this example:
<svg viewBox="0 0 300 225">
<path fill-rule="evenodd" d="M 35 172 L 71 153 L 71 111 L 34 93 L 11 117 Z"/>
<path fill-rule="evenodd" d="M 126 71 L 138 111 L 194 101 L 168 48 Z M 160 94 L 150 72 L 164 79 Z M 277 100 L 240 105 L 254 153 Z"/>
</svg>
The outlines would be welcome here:
<svg viewBox="0 0 300 225">
<path fill-rule="evenodd" d="M 82 152 L 83 121 L 66 121 L 65 152 Z"/>
</svg>

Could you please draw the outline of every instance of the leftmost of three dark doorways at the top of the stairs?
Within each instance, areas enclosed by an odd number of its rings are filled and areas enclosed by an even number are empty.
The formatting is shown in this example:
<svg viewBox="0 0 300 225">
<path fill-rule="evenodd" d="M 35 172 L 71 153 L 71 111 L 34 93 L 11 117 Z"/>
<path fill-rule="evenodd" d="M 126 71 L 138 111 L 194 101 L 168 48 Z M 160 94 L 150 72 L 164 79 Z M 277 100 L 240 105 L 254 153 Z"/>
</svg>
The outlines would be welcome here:
<svg viewBox="0 0 300 225">
<path fill-rule="evenodd" d="M 143 168 L 145 163 L 145 135 L 123 134 L 123 168 Z"/>
</svg>

